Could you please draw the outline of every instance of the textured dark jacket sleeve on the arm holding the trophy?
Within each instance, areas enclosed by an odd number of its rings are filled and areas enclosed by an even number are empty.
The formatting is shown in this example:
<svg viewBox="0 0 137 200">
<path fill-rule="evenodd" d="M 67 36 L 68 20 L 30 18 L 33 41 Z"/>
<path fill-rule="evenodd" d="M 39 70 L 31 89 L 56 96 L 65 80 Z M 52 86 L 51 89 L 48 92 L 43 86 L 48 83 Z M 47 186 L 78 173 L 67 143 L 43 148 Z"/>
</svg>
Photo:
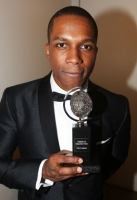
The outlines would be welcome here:
<svg viewBox="0 0 137 200">
<path fill-rule="evenodd" d="M 41 159 L 13 160 L 17 146 L 17 124 L 10 111 L 5 90 L 0 103 L 0 183 L 9 188 L 35 189 Z"/>
</svg>

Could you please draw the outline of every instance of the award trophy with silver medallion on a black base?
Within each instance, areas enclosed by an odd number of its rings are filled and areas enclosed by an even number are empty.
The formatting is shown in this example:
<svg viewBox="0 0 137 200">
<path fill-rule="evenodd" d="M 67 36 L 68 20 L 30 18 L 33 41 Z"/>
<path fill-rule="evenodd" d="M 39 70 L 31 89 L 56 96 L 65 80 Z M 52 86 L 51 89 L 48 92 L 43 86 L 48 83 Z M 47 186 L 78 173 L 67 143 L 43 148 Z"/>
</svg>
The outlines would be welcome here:
<svg viewBox="0 0 137 200">
<path fill-rule="evenodd" d="M 73 114 L 79 118 L 78 120 L 72 118 L 65 107 L 67 96 L 75 90 L 78 91 L 71 96 L 70 107 Z M 93 102 L 90 96 L 82 90 L 82 87 L 72 88 L 64 98 L 63 107 L 67 116 L 77 122 L 75 127 L 72 128 L 73 156 L 78 156 L 83 159 L 83 163 L 80 165 L 80 167 L 82 167 L 82 172 L 99 173 L 99 161 L 94 153 L 92 145 L 92 130 L 87 126 L 87 123 L 84 123 L 89 120 L 88 115 L 93 108 Z"/>
</svg>

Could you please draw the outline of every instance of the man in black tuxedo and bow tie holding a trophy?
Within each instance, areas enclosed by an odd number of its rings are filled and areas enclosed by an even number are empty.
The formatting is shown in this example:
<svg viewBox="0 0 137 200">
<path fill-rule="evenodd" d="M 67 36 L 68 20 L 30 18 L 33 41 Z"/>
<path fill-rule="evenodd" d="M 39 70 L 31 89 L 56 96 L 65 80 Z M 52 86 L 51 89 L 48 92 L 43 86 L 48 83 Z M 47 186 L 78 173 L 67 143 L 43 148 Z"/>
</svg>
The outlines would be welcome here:
<svg viewBox="0 0 137 200">
<path fill-rule="evenodd" d="M 97 26 L 79 7 L 50 20 L 46 55 L 52 73 L 5 90 L 0 104 L 0 182 L 19 189 L 19 200 L 101 200 L 103 182 L 125 161 L 130 114 L 125 97 L 88 80 L 97 55 Z M 83 86 L 93 100 L 91 136 L 101 166 L 88 174 L 72 151 L 72 124 L 52 92 Z M 69 101 L 67 101 L 68 103 Z M 69 109 L 69 106 L 67 107 Z M 12 160 L 18 146 L 21 158 Z M 65 149 L 65 150 L 63 150 Z M 65 167 L 62 163 L 77 164 Z"/>
</svg>

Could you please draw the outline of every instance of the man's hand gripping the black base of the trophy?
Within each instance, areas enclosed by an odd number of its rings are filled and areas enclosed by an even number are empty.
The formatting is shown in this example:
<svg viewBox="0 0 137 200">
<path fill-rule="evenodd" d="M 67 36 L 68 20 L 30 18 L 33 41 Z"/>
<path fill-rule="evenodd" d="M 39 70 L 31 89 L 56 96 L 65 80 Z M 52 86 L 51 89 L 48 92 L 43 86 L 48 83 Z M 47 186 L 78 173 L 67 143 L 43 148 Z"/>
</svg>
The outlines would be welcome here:
<svg viewBox="0 0 137 200">
<path fill-rule="evenodd" d="M 87 173 L 82 173 L 82 168 L 79 166 L 65 167 L 66 164 L 81 164 L 82 158 L 76 156 L 66 156 L 71 153 L 67 150 L 62 150 L 56 154 L 52 154 L 44 163 L 42 169 L 42 178 L 49 179 L 53 182 L 62 181 L 75 176 L 83 176 Z"/>
</svg>

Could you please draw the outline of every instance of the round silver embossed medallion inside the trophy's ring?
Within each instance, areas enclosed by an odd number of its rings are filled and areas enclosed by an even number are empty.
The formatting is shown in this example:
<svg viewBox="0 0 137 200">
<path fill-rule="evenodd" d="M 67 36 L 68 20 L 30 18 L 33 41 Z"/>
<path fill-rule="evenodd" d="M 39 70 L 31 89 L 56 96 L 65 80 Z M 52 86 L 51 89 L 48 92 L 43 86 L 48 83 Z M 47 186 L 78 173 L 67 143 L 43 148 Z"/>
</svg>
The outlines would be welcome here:
<svg viewBox="0 0 137 200">
<path fill-rule="evenodd" d="M 74 115 L 83 119 L 87 117 L 93 108 L 93 102 L 90 96 L 83 90 L 75 92 L 70 100 L 71 110 Z"/>
</svg>

